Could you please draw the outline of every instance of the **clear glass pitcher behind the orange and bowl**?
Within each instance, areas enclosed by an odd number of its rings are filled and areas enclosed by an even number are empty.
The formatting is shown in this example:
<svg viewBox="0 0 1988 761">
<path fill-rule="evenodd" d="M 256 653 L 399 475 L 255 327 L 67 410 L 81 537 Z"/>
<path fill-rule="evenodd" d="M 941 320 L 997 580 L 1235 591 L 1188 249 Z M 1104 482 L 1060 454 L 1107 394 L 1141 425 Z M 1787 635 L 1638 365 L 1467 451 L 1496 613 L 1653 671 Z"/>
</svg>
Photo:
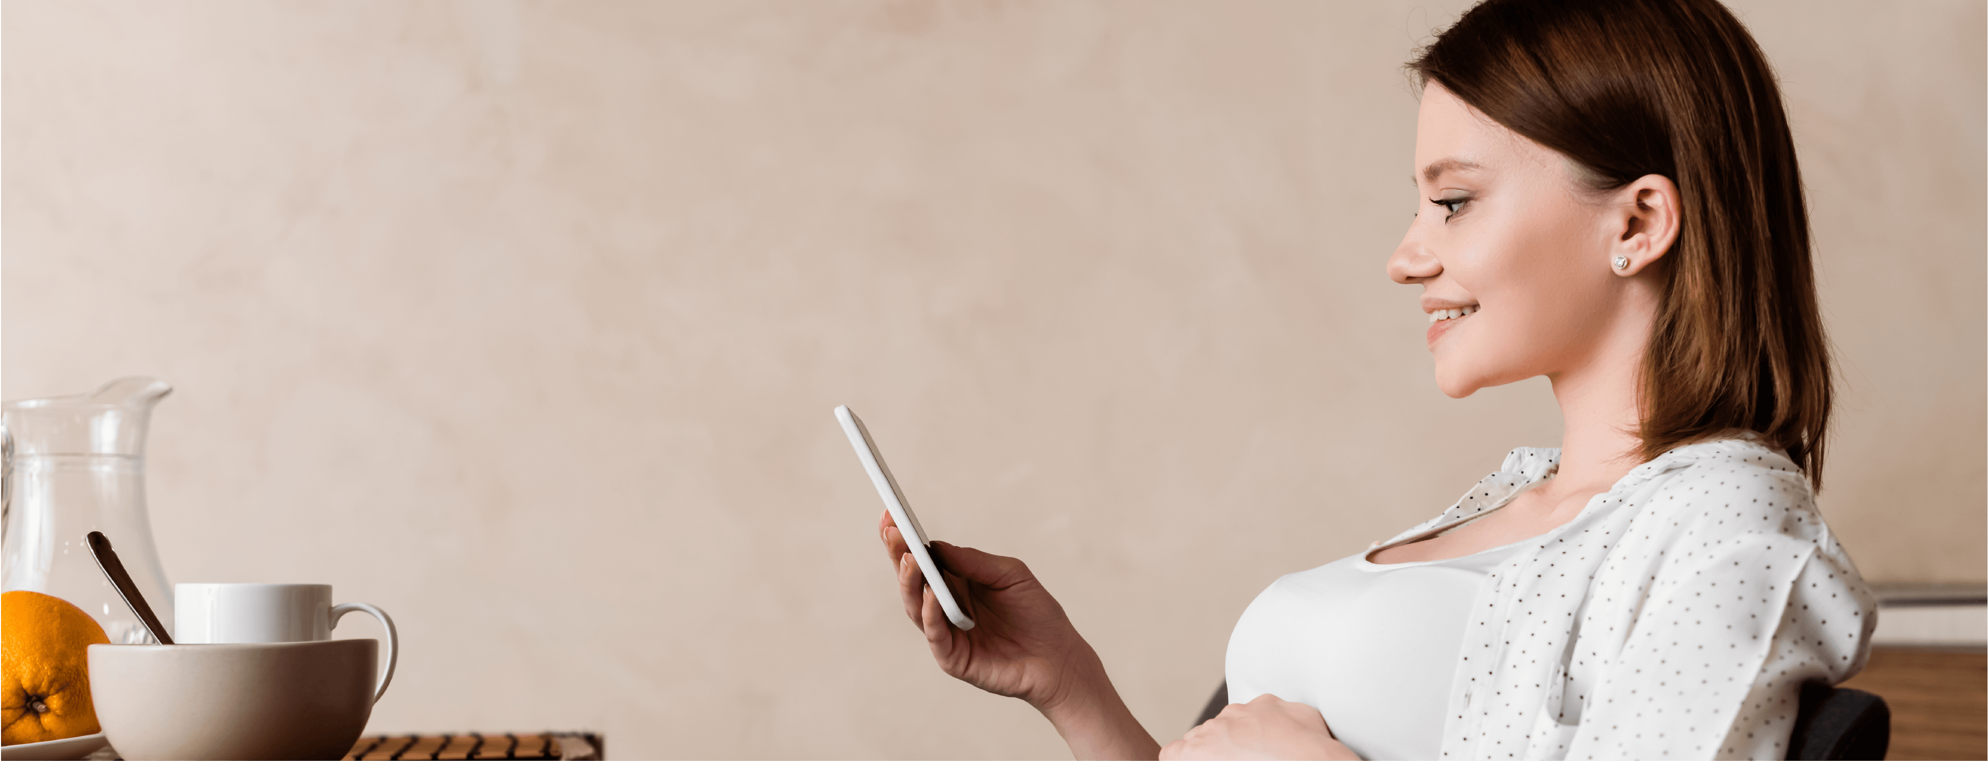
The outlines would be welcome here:
<svg viewBox="0 0 1988 761">
<path fill-rule="evenodd" d="M 145 427 L 173 387 L 119 378 L 103 387 L 0 405 L 0 590 L 34 590 L 83 608 L 111 642 L 151 644 L 89 554 L 91 531 L 167 628 L 173 586 L 145 517 Z"/>
</svg>

